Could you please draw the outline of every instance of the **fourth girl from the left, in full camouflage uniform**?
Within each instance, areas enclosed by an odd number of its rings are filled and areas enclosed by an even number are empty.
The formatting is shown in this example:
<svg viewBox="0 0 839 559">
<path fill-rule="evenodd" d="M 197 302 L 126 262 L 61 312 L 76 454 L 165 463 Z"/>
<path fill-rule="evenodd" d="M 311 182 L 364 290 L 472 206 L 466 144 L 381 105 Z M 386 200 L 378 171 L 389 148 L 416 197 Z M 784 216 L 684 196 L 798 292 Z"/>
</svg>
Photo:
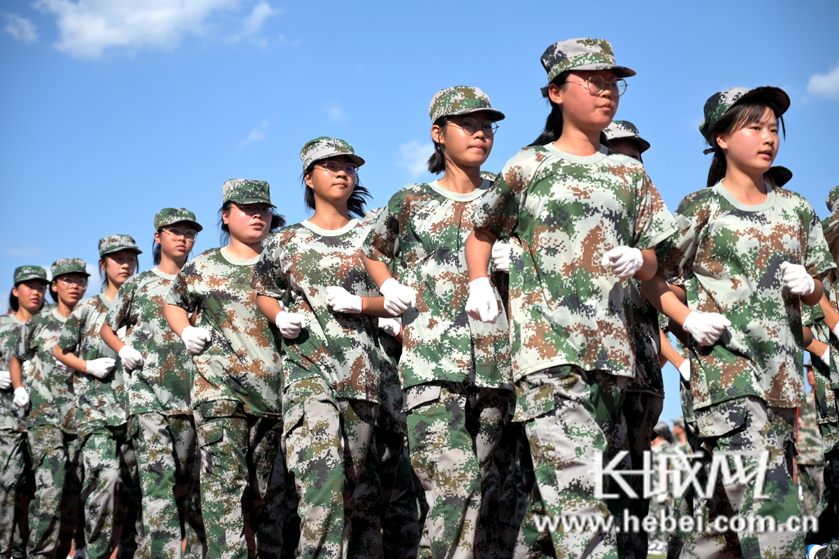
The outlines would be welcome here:
<svg viewBox="0 0 839 559">
<path fill-rule="evenodd" d="M 163 315 L 166 295 L 190 256 L 201 225 L 184 208 L 164 208 L 154 217 L 154 264 L 117 291 L 102 326 L 102 339 L 126 370 L 128 436 L 137 456 L 143 494 L 139 557 L 206 553 L 201 523 L 199 463 L 190 409 L 192 361 L 184 342 Z M 117 331 L 126 327 L 125 342 Z M 197 498 L 197 499 L 196 499 Z"/>
</svg>

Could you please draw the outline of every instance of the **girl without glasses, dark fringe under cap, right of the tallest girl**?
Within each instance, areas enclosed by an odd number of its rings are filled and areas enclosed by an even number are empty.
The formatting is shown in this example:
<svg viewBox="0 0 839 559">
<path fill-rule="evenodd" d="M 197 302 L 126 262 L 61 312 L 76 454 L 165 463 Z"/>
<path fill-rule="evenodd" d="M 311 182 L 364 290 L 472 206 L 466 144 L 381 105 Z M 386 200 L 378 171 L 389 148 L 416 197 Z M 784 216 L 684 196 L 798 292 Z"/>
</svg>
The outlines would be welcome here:
<svg viewBox="0 0 839 559">
<path fill-rule="evenodd" d="M 836 264 L 812 206 L 763 180 L 787 107 L 786 93 L 770 86 L 736 87 L 708 99 L 700 125 L 714 152 L 708 188 L 681 201 L 680 232 L 657 248 L 664 277 L 681 274 L 685 283 L 691 309 L 685 326 L 698 313 L 722 313 L 728 322 L 717 342 L 688 332 L 690 393 L 704 447 L 748 453 L 741 455 L 746 468 L 758 463 L 760 452 L 770 456 L 761 488 L 770 499 L 756 499 L 756 484 L 745 476 L 725 487 L 720 476 L 711 480 L 717 486 L 703 507 L 706 530 L 694 531 L 682 556 L 803 550 L 800 532 L 792 530 L 710 528 L 720 516 L 769 516 L 781 524 L 800 515 L 792 457 L 796 408 L 804 398 L 801 306 L 818 303 L 818 277 Z"/>
</svg>

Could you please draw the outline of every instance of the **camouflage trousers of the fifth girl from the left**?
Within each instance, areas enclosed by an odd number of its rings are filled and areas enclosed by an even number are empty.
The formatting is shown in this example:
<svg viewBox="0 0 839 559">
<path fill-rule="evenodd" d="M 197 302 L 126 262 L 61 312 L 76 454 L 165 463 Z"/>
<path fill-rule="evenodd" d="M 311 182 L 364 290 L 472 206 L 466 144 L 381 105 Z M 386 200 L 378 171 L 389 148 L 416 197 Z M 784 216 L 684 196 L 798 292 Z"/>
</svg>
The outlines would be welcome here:
<svg viewBox="0 0 839 559">
<path fill-rule="evenodd" d="M 216 400 L 195 407 L 195 424 L 208 559 L 281 556 L 282 422 Z"/>
</svg>

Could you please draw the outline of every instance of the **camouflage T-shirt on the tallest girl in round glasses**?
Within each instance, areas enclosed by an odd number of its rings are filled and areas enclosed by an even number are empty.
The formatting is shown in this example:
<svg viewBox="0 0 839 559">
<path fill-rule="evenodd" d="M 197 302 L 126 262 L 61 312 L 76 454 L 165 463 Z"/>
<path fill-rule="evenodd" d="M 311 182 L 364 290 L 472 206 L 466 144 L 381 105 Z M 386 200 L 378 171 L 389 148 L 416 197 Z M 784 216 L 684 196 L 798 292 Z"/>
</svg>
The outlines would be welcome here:
<svg viewBox="0 0 839 559">
<path fill-rule="evenodd" d="M 472 219 L 522 242 L 509 277 L 513 379 L 560 364 L 635 374 L 635 288 L 601 263 L 612 248 L 653 248 L 675 232 L 644 165 L 606 148 L 525 148 Z"/>
</svg>

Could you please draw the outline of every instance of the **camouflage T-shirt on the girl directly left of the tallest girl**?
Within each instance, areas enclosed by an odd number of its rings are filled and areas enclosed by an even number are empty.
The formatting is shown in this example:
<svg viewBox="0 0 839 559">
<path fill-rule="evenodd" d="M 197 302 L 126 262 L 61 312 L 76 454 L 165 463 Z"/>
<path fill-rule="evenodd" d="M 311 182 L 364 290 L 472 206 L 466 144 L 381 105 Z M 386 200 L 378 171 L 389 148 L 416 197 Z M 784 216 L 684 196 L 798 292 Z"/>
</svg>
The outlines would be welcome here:
<svg viewBox="0 0 839 559">
<path fill-rule="evenodd" d="M 489 181 L 469 194 L 446 191 L 435 180 L 406 185 L 393 195 L 364 242 L 369 259 L 388 264 L 414 290 L 416 307 L 402 315 L 402 388 L 434 381 L 512 389 L 507 316 L 484 324 L 466 314 L 469 271 L 463 252 L 470 216 Z M 498 295 L 497 278 L 490 279 Z"/>
</svg>

